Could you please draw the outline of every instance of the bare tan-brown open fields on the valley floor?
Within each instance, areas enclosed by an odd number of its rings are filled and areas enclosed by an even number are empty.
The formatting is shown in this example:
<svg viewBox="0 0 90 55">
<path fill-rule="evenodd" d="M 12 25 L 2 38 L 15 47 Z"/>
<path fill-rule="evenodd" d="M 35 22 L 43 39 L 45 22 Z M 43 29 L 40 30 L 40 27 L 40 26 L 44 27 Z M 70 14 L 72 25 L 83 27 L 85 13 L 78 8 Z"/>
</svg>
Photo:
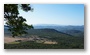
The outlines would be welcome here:
<svg viewBox="0 0 90 55">
<path fill-rule="evenodd" d="M 41 41 L 40 38 L 37 36 L 32 36 L 31 38 L 30 37 L 29 38 L 20 38 L 20 37 L 13 38 L 13 37 L 8 36 L 8 37 L 4 37 L 4 43 L 11 43 L 11 42 L 15 42 L 17 40 L 32 41 L 34 39 L 39 39 L 39 40 L 37 40 L 38 41 L 37 43 L 44 42 L 43 44 L 57 44 L 56 41 L 51 41 L 51 40 L 46 40 L 46 39 L 43 39 Z"/>
</svg>

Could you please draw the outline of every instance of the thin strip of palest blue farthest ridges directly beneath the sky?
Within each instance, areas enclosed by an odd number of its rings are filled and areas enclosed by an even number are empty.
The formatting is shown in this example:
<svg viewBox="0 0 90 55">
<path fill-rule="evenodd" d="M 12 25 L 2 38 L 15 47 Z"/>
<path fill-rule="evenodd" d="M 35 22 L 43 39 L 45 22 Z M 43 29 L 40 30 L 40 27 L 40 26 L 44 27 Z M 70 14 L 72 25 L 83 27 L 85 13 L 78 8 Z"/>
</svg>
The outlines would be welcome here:
<svg viewBox="0 0 90 55">
<path fill-rule="evenodd" d="M 57 31 L 63 31 L 63 30 L 79 30 L 79 31 L 84 31 L 84 25 L 81 26 L 73 26 L 73 25 L 34 25 L 35 29 L 44 29 L 44 28 L 51 28 L 55 29 Z"/>
</svg>

